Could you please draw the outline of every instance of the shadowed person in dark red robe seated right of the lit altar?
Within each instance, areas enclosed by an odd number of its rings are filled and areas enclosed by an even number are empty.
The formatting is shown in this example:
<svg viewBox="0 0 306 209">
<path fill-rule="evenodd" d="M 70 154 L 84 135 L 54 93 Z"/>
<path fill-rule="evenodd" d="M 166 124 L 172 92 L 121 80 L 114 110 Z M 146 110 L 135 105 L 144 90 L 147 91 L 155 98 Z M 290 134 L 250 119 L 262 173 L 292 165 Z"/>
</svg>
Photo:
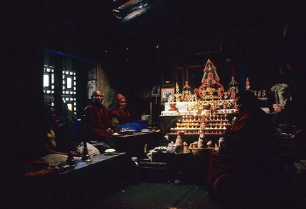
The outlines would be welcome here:
<svg viewBox="0 0 306 209">
<path fill-rule="evenodd" d="M 273 123 L 252 91 L 236 94 L 236 109 L 238 116 L 223 145 L 211 153 L 208 195 L 225 205 L 268 208 L 275 203 L 268 194 L 278 190 L 275 182 L 280 179 L 275 176 L 282 176 Z"/>
</svg>

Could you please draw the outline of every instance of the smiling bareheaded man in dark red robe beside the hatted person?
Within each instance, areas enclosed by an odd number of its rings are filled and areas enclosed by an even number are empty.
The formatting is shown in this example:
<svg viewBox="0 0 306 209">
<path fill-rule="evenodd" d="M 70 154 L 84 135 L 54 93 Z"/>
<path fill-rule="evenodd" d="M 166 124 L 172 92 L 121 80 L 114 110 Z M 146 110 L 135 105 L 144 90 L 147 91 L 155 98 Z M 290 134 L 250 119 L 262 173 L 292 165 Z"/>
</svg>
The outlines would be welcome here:
<svg viewBox="0 0 306 209">
<path fill-rule="evenodd" d="M 112 119 L 106 106 L 102 104 L 102 92 L 99 90 L 93 91 L 91 98 L 92 102 L 84 110 L 88 140 L 96 140 L 107 144 L 113 133 Z"/>
</svg>

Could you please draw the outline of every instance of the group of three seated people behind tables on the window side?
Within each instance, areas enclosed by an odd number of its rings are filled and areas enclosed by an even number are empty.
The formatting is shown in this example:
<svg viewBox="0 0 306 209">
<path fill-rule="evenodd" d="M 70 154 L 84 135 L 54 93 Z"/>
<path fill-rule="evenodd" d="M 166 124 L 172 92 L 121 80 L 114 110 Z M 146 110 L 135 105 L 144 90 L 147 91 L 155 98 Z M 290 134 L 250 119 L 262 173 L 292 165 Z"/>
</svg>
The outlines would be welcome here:
<svg viewBox="0 0 306 209">
<path fill-rule="evenodd" d="M 83 123 L 85 124 L 85 132 L 83 130 L 81 133 L 86 134 L 88 142 L 100 142 L 100 146 L 93 146 L 86 142 L 88 154 L 90 157 L 93 157 L 94 155 L 101 154 L 105 149 L 114 147 L 114 143 L 110 139 L 112 134 L 120 131 L 121 124 L 132 121 L 133 115 L 127 108 L 127 98 L 122 94 L 117 94 L 117 106 L 110 112 L 102 104 L 103 94 L 101 91 L 93 91 L 91 98 L 91 103 L 84 110 L 83 115 L 85 117 L 82 118 L 84 121 L 81 121 L 82 124 L 79 125 L 83 126 Z M 44 105 L 42 125 L 45 137 L 37 143 L 37 153 L 35 156 L 47 164 L 42 164 L 42 162 L 36 160 L 24 160 L 23 170 L 29 176 L 36 176 L 40 173 L 53 171 L 54 167 L 52 169 L 45 169 L 44 171 L 41 170 L 41 167 L 42 165 L 46 167 L 65 162 L 70 154 L 73 155 L 74 159 L 81 159 L 83 154 L 83 141 L 77 140 L 78 142 L 74 142 L 71 139 L 73 129 L 71 121 L 69 121 L 69 125 L 65 123 L 59 124 L 58 118 L 56 109 L 53 106 L 48 104 Z M 65 119 L 67 120 L 67 118 Z M 68 120 L 71 120 L 71 118 Z M 78 128 L 82 129 L 83 127 Z"/>
</svg>

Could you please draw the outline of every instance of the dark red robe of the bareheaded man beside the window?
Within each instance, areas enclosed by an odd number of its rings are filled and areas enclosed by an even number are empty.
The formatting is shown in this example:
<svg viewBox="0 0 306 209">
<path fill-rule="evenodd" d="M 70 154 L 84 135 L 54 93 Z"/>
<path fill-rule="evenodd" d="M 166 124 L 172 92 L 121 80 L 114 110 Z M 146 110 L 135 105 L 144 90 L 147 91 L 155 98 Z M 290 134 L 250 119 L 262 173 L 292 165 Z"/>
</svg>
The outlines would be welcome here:
<svg viewBox="0 0 306 209">
<path fill-rule="evenodd" d="M 112 120 L 104 105 L 90 103 L 85 108 L 85 123 L 88 140 L 105 140 L 111 137 L 106 129 L 112 126 Z"/>
</svg>

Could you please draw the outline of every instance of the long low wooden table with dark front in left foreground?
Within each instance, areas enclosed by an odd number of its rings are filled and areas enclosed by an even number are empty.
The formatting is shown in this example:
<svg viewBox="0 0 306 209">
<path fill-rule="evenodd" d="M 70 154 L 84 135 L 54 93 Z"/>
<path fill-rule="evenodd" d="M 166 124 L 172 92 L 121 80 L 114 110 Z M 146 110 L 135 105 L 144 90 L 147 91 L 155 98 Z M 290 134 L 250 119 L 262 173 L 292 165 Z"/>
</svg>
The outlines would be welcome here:
<svg viewBox="0 0 306 209">
<path fill-rule="evenodd" d="M 23 181 L 23 208 L 88 208 L 95 193 L 109 193 L 125 185 L 131 164 L 125 152 L 100 154 L 77 161 L 60 174 Z"/>
</svg>

